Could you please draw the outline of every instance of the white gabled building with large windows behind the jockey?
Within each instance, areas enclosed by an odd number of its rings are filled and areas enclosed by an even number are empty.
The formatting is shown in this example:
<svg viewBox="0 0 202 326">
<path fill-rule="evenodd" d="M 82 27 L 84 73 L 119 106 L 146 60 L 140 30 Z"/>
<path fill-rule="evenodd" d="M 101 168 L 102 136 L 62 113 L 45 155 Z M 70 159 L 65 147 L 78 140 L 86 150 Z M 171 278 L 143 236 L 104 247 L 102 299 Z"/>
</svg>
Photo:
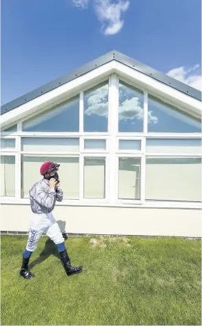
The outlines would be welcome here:
<svg viewBox="0 0 202 326">
<path fill-rule="evenodd" d="M 201 92 L 105 54 L 1 107 L 1 232 L 28 232 L 50 160 L 66 232 L 200 237 L 201 135 Z"/>
</svg>

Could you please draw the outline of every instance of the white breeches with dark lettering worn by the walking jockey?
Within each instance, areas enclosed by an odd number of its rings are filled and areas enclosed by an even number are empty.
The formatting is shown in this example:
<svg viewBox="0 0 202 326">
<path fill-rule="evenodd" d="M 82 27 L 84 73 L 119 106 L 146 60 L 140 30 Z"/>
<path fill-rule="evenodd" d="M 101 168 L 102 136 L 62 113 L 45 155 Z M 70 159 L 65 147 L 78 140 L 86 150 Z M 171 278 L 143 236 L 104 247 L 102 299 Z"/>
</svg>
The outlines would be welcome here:
<svg viewBox="0 0 202 326">
<path fill-rule="evenodd" d="M 52 213 L 33 214 L 26 246 L 28 251 L 34 252 L 43 233 L 46 233 L 56 245 L 64 241 L 59 225 Z"/>
</svg>

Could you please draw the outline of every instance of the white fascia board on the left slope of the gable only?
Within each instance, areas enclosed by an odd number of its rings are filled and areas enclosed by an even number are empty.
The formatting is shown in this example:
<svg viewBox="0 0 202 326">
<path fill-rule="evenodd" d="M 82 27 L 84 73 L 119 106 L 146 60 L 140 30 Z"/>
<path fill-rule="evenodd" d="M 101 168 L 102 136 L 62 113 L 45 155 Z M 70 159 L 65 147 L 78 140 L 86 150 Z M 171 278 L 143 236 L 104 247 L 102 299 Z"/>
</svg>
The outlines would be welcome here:
<svg viewBox="0 0 202 326">
<path fill-rule="evenodd" d="M 15 108 L 15 110 L 6 112 L 6 114 L 3 114 L 0 118 L 1 128 L 7 128 L 8 125 L 16 123 L 17 121 L 24 119 L 26 116 L 30 116 L 30 114 L 34 114 L 39 110 L 44 110 L 44 108 L 51 108 L 52 106 L 57 105 L 57 103 L 76 95 L 76 93 L 79 94 L 81 88 L 87 88 L 92 84 L 99 83 L 101 79 L 108 78 L 113 71 L 114 63 L 111 61 L 88 72 L 87 74 L 83 74 L 77 79 L 73 79 L 69 83 L 65 83 L 46 94 L 32 99 L 28 103 L 20 105 L 18 108 Z"/>
</svg>

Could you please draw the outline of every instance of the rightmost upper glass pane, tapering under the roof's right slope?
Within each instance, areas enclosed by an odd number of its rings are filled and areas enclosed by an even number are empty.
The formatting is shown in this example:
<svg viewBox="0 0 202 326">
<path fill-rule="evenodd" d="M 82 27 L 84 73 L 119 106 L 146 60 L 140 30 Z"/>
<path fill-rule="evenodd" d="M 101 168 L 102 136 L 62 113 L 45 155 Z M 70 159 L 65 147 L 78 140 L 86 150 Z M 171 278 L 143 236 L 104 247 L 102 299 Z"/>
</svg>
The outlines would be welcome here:
<svg viewBox="0 0 202 326">
<path fill-rule="evenodd" d="M 201 121 L 149 95 L 148 132 L 201 132 Z"/>
</svg>

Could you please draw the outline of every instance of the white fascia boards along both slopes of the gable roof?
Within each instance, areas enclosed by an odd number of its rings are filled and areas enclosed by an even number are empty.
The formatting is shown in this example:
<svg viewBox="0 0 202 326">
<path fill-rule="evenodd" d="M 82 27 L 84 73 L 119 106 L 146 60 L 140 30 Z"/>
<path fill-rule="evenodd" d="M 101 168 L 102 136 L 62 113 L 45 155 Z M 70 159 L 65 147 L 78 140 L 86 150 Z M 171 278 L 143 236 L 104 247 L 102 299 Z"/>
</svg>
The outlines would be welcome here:
<svg viewBox="0 0 202 326">
<path fill-rule="evenodd" d="M 101 79 L 107 78 L 112 73 L 117 73 L 117 75 L 123 79 L 128 80 L 131 84 L 136 84 L 137 87 L 148 90 L 156 94 L 156 96 L 161 96 L 168 103 L 183 109 L 185 112 L 194 114 L 194 116 L 201 117 L 201 102 L 176 90 L 170 88 L 170 86 L 152 79 L 150 76 L 134 70 L 123 63 L 118 61 L 110 61 L 101 67 L 83 74 L 77 79 L 73 79 L 69 83 L 54 88 L 50 92 L 43 94 L 28 103 L 20 105 L 15 110 L 10 110 L 6 114 L 1 116 L 1 128 L 6 128 L 8 125 L 16 123 L 25 119 L 27 116 L 37 114 L 39 110 L 44 110 L 45 108 L 51 108 L 61 101 L 65 101 L 71 96 L 76 95 L 77 92 L 81 91 L 81 88 L 92 87 L 94 83 L 99 83 Z"/>
</svg>

